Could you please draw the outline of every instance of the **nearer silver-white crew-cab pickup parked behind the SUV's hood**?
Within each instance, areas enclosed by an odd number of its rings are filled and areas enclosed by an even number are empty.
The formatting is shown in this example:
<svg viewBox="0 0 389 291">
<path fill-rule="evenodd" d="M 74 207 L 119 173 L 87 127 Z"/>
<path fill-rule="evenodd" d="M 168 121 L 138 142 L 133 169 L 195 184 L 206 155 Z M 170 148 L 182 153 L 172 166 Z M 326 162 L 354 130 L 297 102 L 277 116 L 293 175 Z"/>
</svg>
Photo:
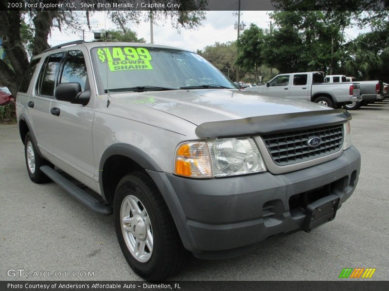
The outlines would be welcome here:
<svg viewBox="0 0 389 291">
<path fill-rule="evenodd" d="M 281 74 L 264 86 L 246 88 L 245 91 L 307 100 L 332 108 L 361 101 L 358 83 L 325 84 L 322 72 Z"/>
</svg>

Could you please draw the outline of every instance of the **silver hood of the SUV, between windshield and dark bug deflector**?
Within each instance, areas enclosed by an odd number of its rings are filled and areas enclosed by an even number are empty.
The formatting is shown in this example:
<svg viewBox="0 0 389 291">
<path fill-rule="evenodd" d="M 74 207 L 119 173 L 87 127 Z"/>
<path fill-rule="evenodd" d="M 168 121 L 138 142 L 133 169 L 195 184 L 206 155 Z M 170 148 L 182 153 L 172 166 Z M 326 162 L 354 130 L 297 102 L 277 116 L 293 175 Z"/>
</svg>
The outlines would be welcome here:
<svg viewBox="0 0 389 291">
<path fill-rule="evenodd" d="M 110 94 L 120 108 L 134 103 L 169 113 L 195 125 L 253 116 L 328 110 L 309 101 L 274 97 L 253 91 L 198 89 Z"/>
</svg>

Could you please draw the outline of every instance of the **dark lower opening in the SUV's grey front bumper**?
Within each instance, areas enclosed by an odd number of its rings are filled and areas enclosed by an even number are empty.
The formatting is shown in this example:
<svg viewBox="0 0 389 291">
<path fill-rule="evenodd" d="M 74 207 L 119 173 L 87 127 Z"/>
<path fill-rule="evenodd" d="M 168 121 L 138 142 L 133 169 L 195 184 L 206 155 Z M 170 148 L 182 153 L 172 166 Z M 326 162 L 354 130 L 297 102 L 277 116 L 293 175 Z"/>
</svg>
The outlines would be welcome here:
<svg viewBox="0 0 389 291">
<path fill-rule="evenodd" d="M 331 194 L 340 196 L 345 187 L 347 187 L 347 181 L 348 176 L 340 178 L 335 182 L 329 183 L 322 187 L 291 196 L 289 198 L 290 215 L 292 217 L 304 215 L 308 204 L 311 204 L 312 202 L 315 202 L 316 200 L 325 196 Z"/>
</svg>

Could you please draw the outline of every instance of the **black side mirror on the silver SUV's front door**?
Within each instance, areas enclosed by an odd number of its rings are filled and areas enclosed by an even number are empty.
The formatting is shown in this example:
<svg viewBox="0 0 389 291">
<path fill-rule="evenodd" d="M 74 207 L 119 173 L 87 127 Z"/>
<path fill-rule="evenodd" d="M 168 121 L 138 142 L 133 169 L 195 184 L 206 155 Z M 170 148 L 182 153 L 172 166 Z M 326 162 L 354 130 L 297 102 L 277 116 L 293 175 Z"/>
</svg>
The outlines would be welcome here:
<svg viewBox="0 0 389 291">
<path fill-rule="evenodd" d="M 55 88 L 54 97 L 60 101 L 87 105 L 90 99 L 90 92 L 82 92 L 80 83 L 62 83 Z"/>
</svg>

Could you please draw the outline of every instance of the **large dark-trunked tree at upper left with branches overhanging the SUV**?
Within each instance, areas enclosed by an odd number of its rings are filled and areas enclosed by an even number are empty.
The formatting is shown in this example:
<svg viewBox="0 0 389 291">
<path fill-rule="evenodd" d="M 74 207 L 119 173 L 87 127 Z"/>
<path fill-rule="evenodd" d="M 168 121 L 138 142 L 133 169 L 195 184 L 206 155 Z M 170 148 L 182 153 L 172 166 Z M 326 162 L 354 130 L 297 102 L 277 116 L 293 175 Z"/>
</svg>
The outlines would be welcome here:
<svg viewBox="0 0 389 291">
<path fill-rule="evenodd" d="M 25 0 L 25 2 L 36 3 L 35 0 Z M 59 0 L 51 0 L 50 2 L 58 3 Z M 84 0 L 83 2 L 96 4 L 99 1 Z M 169 0 L 159 1 L 159 3 L 164 3 L 165 7 L 167 7 L 166 4 L 168 2 Z M 158 20 L 170 17 L 172 26 L 175 29 L 179 29 L 180 27 L 193 28 L 199 25 L 205 18 L 203 12 L 205 10 L 205 0 L 176 0 L 175 2 L 181 4 L 180 9 L 183 11 L 166 8 L 164 11 L 154 12 L 153 19 Z M 3 40 L 2 46 L 7 54 L 9 64 L 0 60 L 0 82 L 9 88 L 13 95 L 16 95 L 21 78 L 29 65 L 29 55 L 20 34 L 22 20 L 25 18 L 30 19 L 30 25 L 34 32 L 32 54 L 36 55 L 49 48 L 48 36 L 53 27 L 76 32 L 80 31 L 83 24 L 87 22 L 90 28 L 89 16 L 94 11 L 88 10 L 81 15 L 81 13 L 66 10 L 8 10 L 6 5 L 5 1 L 0 1 L 0 36 Z M 122 28 L 125 28 L 128 22 L 140 23 L 143 20 L 148 20 L 150 17 L 148 11 L 107 11 L 107 15 Z"/>
</svg>

